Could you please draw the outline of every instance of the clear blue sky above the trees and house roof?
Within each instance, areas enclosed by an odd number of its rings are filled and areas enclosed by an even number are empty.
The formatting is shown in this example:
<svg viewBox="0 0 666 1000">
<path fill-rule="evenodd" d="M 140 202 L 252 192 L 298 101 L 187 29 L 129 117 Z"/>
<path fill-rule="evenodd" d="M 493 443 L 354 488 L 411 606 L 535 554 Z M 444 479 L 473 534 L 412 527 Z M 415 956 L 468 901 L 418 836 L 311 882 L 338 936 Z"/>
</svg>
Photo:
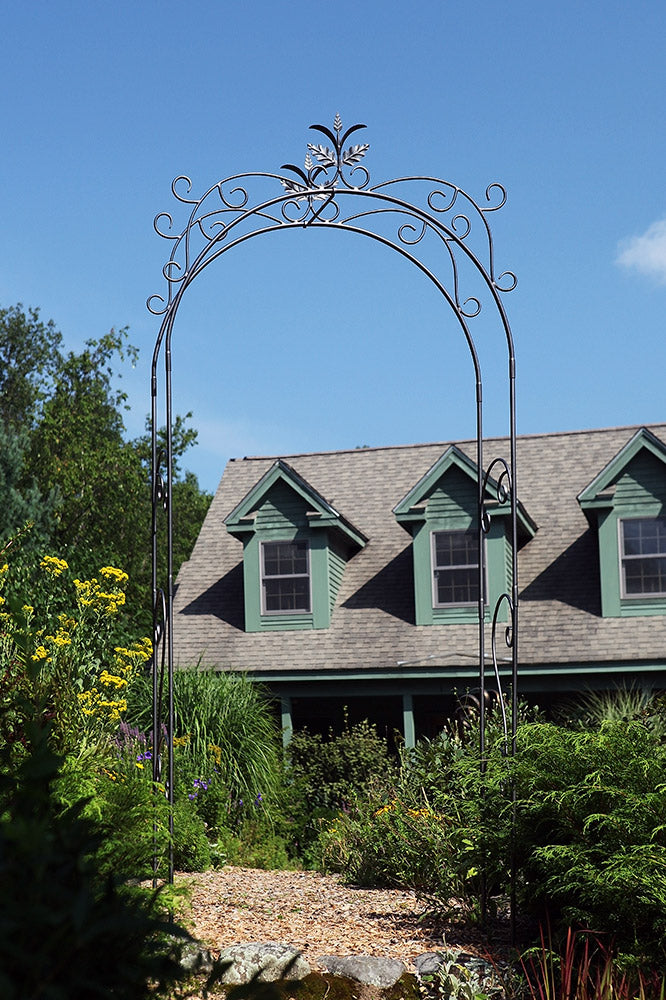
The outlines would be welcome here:
<svg viewBox="0 0 666 1000">
<path fill-rule="evenodd" d="M 662 2 L 28 0 L 3 5 L 2 34 L 0 304 L 39 306 L 71 347 L 129 325 L 129 433 L 149 408 L 145 303 L 169 253 L 152 220 L 176 214 L 172 179 L 203 194 L 301 164 L 308 126 L 336 112 L 367 124 L 373 183 L 505 186 L 519 432 L 663 420 Z M 231 456 L 472 436 L 459 340 L 432 286 L 370 241 L 251 241 L 179 313 L 176 408 L 200 432 L 185 464 L 213 489 Z M 484 374 L 501 434 L 500 350 Z"/>
</svg>

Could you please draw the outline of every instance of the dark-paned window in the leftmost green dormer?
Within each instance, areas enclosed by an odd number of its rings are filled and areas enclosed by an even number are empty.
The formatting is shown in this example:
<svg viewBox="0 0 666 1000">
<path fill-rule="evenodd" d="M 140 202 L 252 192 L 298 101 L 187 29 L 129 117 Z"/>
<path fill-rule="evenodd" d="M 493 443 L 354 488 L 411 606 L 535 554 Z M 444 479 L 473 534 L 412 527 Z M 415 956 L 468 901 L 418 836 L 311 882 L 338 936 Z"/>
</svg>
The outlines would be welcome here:
<svg viewBox="0 0 666 1000">
<path fill-rule="evenodd" d="M 262 614 L 310 611 L 310 558 L 306 541 L 261 545 Z"/>
</svg>

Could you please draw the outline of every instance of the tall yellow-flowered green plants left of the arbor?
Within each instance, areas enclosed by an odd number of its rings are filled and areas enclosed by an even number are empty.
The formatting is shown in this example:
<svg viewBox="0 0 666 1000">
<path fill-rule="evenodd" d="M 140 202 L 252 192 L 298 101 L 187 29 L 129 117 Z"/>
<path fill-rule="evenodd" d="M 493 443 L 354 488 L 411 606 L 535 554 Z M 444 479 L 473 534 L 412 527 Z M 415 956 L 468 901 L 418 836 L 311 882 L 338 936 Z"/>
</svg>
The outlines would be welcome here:
<svg viewBox="0 0 666 1000">
<path fill-rule="evenodd" d="M 136 754 L 128 759 L 117 739 L 127 691 L 151 654 L 149 639 L 117 645 L 127 576 L 106 566 L 90 580 L 72 579 L 66 560 L 44 556 L 28 603 L 12 570 L 0 566 L 0 746 L 20 761 L 38 706 L 63 758 L 55 799 L 63 810 L 84 802 L 84 818 L 109 831 L 97 852 L 100 873 L 146 876 L 155 849 L 166 854 L 168 816 L 150 769 Z"/>
</svg>

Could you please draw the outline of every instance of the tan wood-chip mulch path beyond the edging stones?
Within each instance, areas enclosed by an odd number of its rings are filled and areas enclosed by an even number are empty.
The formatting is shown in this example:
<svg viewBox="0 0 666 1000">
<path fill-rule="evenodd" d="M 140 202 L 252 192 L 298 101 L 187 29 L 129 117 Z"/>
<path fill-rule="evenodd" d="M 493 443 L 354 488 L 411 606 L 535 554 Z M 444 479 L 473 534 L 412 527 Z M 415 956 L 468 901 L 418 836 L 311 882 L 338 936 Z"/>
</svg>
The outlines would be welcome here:
<svg viewBox="0 0 666 1000">
<path fill-rule="evenodd" d="M 191 908 L 187 922 L 213 953 L 232 944 L 278 941 L 311 965 L 321 955 L 374 955 L 412 960 L 446 944 L 486 954 L 474 929 L 433 923 L 413 892 L 345 886 L 336 875 L 227 866 L 179 874 Z"/>
</svg>

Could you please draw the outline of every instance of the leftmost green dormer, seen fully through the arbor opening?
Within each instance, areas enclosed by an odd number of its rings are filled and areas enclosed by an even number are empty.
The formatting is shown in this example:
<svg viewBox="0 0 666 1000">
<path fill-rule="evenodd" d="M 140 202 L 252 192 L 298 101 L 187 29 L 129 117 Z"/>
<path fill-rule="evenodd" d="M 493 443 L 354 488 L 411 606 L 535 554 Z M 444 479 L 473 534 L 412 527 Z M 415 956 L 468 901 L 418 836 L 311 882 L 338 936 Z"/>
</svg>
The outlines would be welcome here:
<svg viewBox="0 0 666 1000">
<path fill-rule="evenodd" d="M 224 523 L 243 543 L 245 631 L 328 628 L 365 535 L 282 459 Z"/>
</svg>

